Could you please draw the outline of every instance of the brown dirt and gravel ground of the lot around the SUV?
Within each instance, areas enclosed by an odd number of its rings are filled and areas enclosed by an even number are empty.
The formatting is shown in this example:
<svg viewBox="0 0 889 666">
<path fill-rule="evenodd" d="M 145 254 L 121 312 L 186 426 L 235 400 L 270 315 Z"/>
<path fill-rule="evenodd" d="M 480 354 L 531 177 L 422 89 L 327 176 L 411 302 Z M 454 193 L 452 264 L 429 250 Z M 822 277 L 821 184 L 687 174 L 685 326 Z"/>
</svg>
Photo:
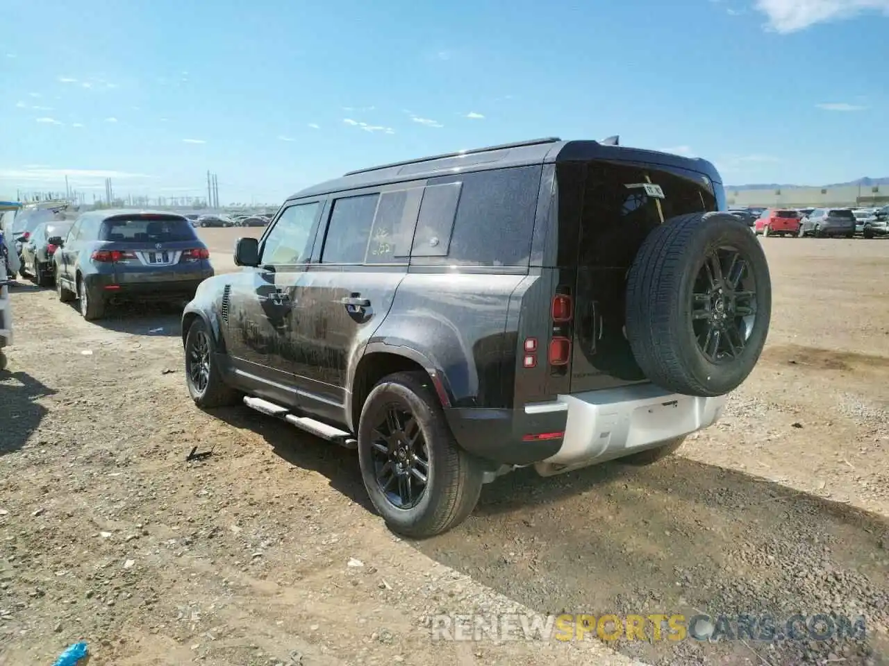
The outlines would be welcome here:
<svg viewBox="0 0 889 666">
<path fill-rule="evenodd" d="M 237 235 L 201 230 L 217 270 Z M 889 663 L 889 241 L 763 241 L 773 327 L 722 420 L 647 468 L 485 487 L 414 543 L 356 454 L 188 400 L 179 316 L 13 289 L 0 664 Z M 212 456 L 187 462 L 191 448 Z M 433 614 L 836 612 L 867 639 L 434 643 Z M 616 650 L 613 651 L 613 650 Z"/>
</svg>

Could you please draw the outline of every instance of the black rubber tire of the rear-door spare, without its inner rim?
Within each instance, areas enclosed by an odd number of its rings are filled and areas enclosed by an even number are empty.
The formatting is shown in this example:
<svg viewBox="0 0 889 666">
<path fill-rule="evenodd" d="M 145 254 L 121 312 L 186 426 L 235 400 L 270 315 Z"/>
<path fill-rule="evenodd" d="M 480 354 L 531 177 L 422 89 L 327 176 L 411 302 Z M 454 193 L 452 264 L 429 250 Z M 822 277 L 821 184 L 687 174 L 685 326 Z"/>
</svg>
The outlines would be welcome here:
<svg viewBox="0 0 889 666">
<path fill-rule="evenodd" d="M 737 358 L 715 363 L 702 352 L 692 320 L 693 289 L 709 252 L 732 248 L 755 284 L 752 325 Z M 744 278 L 744 275 L 747 277 Z M 772 314 L 772 282 L 762 246 L 722 212 L 670 218 L 643 242 L 629 269 L 627 337 L 639 368 L 655 385 L 709 397 L 733 391 L 762 353 Z"/>
</svg>

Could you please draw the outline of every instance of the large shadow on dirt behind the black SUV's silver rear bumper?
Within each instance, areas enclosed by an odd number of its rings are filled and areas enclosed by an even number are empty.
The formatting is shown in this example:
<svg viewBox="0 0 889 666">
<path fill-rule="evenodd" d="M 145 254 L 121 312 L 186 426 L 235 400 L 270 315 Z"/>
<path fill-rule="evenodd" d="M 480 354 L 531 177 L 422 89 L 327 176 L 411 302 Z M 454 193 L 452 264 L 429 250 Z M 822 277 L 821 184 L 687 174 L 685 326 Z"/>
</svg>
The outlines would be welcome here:
<svg viewBox="0 0 889 666">
<path fill-rule="evenodd" d="M 462 527 L 412 545 L 545 614 L 786 620 L 797 612 L 852 616 L 858 608 L 868 622 L 889 622 L 889 520 L 681 456 L 549 479 L 522 470 L 485 486 Z M 787 642 L 777 651 L 755 645 L 765 661 L 740 641 L 621 640 L 616 647 L 652 663 L 805 661 L 795 652 L 800 644 Z M 812 649 L 853 663 L 864 662 L 855 651 L 876 649 L 848 644 L 849 655 L 842 647 Z"/>
</svg>

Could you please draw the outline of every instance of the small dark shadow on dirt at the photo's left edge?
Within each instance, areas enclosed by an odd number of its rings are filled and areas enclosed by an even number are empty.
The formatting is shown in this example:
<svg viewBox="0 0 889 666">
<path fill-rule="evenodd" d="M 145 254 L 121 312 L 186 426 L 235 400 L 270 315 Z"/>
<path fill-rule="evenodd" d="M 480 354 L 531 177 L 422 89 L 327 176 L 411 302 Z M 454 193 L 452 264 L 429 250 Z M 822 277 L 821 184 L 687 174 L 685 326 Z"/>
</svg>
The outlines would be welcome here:
<svg viewBox="0 0 889 666">
<path fill-rule="evenodd" d="M 26 372 L 0 370 L 0 456 L 25 445 L 49 412 L 36 400 L 54 394 Z"/>
</svg>

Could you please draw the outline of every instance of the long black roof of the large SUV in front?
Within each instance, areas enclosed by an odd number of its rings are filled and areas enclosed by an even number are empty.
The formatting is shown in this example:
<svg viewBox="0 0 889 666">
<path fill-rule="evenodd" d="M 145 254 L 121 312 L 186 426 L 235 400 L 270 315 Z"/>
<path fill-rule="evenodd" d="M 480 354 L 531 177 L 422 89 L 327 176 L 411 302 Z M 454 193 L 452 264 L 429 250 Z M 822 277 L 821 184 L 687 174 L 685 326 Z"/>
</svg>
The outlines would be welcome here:
<svg viewBox="0 0 889 666">
<path fill-rule="evenodd" d="M 683 157 L 624 146 L 614 146 L 592 140 L 563 141 L 562 139 L 533 139 L 473 150 L 462 150 L 447 155 L 434 155 L 406 162 L 384 164 L 364 170 L 349 171 L 342 178 L 334 178 L 293 194 L 290 199 L 320 194 L 331 194 L 361 187 L 373 187 L 404 180 L 420 180 L 447 173 L 502 169 L 544 163 L 589 162 L 655 163 L 680 169 L 698 171 L 711 180 L 722 182 L 716 167 L 700 157 Z"/>
</svg>

